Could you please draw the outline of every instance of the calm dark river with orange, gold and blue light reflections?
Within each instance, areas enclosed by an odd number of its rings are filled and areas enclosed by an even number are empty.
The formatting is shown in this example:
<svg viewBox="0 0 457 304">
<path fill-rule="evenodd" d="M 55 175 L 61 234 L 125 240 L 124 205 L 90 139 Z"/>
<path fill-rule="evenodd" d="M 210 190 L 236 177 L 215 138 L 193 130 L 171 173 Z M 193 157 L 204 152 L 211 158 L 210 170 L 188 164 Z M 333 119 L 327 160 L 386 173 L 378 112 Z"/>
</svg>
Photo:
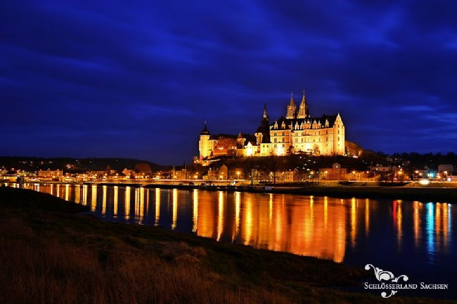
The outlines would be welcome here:
<svg viewBox="0 0 457 304">
<path fill-rule="evenodd" d="M 87 205 L 110 221 L 159 225 L 356 266 L 370 263 L 396 276 L 407 275 L 408 283 L 449 284 L 447 291 L 399 294 L 457 298 L 457 208 L 447 203 L 128 186 L 25 187 Z M 374 276 L 371 283 L 377 283 Z"/>
</svg>

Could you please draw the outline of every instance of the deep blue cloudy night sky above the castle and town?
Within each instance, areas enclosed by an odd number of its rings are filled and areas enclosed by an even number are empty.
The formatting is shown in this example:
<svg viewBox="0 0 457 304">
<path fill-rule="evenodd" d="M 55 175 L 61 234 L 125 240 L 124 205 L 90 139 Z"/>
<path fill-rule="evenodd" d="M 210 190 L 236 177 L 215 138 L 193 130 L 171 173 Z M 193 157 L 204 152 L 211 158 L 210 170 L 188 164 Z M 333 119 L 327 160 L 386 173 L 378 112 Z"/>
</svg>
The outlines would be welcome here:
<svg viewBox="0 0 457 304">
<path fill-rule="evenodd" d="M 384 153 L 457 152 L 455 1 L 0 3 L 0 155 L 182 164 L 264 103 Z"/>
</svg>

